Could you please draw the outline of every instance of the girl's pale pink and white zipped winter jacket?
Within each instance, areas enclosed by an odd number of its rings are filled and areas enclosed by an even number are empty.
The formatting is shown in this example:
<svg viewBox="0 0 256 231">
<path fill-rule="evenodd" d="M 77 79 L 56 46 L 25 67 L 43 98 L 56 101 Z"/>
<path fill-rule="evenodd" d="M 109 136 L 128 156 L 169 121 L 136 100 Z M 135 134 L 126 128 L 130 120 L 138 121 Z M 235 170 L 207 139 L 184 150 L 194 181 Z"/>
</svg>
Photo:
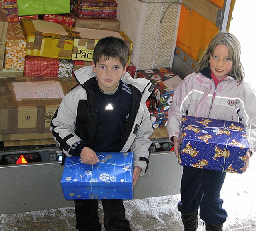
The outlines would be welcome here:
<svg viewBox="0 0 256 231">
<path fill-rule="evenodd" d="M 228 76 L 215 87 L 210 77 L 194 72 L 174 92 L 168 112 L 170 141 L 173 136 L 180 137 L 182 115 L 240 122 L 245 127 L 250 151 L 256 151 L 256 90 L 248 82 L 238 84 Z"/>
</svg>

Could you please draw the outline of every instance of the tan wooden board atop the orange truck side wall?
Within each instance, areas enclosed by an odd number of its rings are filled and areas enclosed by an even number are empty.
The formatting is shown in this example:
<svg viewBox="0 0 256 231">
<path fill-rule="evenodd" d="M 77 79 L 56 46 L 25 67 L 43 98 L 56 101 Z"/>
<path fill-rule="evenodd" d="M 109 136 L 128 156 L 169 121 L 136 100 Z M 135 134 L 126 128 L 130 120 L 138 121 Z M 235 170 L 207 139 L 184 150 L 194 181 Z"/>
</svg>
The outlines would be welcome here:
<svg viewBox="0 0 256 231">
<path fill-rule="evenodd" d="M 216 24 L 218 10 L 222 10 L 218 5 L 208 0 L 182 0 L 182 3 L 214 24 Z"/>
</svg>

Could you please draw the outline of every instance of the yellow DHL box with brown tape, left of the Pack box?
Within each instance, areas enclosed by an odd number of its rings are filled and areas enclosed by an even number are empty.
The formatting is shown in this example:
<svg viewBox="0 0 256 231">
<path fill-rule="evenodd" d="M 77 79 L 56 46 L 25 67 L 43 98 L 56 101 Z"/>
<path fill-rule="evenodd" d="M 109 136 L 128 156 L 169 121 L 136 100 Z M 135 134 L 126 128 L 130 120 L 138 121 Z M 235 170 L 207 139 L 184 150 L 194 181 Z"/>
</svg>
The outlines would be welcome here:
<svg viewBox="0 0 256 231">
<path fill-rule="evenodd" d="M 65 25 L 22 18 L 27 46 L 26 55 L 70 59 L 73 38 Z"/>
</svg>

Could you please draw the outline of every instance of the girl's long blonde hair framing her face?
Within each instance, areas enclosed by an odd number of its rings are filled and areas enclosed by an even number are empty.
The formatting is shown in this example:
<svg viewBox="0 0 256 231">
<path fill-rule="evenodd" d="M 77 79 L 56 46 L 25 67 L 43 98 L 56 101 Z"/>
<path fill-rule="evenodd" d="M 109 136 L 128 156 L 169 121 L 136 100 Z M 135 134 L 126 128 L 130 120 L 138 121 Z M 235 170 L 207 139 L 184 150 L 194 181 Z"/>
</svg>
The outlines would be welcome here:
<svg viewBox="0 0 256 231">
<path fill-rule="evenodd" d="M 229 58 L 233 61 L 233 67 L 229 73 L 230 76 L 236 79 L 238 84 L 244 80 L 244 68 L 240 61 L 241 46 L 238 39 L 229 32 L 220 32 L 216 34 L 210 41 L 202 58 L 199 60 L 196 66 L 196 73 L 199 73 L 204 68 L 210 69 L 209 60 L 210 55 L 213 54 L 216 46 L 224 44 L 228 47 Z"/>
</svg>

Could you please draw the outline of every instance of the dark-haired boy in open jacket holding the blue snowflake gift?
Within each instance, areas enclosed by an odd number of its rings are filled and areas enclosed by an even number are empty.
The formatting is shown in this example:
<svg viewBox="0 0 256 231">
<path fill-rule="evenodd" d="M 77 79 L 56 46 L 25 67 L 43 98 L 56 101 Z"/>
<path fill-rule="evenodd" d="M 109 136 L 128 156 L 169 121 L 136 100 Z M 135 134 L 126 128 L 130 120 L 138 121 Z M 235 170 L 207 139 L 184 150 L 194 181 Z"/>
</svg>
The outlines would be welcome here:
<svg viewBox="0 0 256 231">
<path fill-rule="evenodd" d="M 126 67 L 124 41 L 106 37 L 94 48 L 92 66 L 75 72 L 79 85 L 56 110 L 51 131 L 60 149 L 96 164 L 95 152 L 134 152 L 133 185 L 148 166 L 153 133 L 146 100 L 153 90 L 144 79 L 133 79 Z M 76 228 L 100 231 L 97 200 L 74 200 Z M 131 230 L 122 200 L 102 200 L 106 231 Z"/>
</svg>

